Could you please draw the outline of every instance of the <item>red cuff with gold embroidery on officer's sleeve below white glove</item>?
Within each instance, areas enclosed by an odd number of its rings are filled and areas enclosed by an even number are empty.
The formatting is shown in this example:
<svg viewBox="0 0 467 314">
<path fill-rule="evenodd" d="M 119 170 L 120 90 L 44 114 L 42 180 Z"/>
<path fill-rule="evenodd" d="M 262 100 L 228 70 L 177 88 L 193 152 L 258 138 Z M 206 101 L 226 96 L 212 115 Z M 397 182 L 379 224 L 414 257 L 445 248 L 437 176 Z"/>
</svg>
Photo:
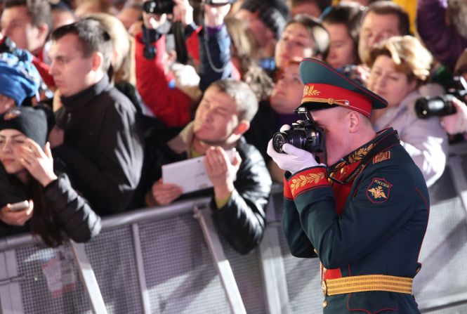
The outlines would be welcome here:
<svg viewBox="0 0 467 314">
<path fill-rule="evenodd" d="M 292 196 L 296 198 L 301 192 L 314 188 L 329 186 L 327 171 L 324 166 L 317 166 L 296 173 L 289 178 Z"/>
</svg>

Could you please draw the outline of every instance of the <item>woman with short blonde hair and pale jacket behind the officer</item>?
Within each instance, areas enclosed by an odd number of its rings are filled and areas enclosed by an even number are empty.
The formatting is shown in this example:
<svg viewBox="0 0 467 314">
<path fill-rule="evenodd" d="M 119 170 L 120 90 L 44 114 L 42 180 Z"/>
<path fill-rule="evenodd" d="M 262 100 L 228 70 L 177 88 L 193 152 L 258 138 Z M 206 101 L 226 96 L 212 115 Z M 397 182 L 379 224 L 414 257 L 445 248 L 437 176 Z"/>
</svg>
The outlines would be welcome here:
<svg viewBox="0 0 467 314">
<path fill-rule="evenodd" d="M 416 100 L 436 96 L 442 89 L 423 85 L 433 58 L 415 37 L 391 37 L 370 55 L 368 88 L 388 100 L 388 107 L 374 110 L 371 122 L 376 131 L 392 126 L 402 145 L 421 169 L 428 186 L 442 175 L 446 165 L 447 134 L 438 117 L 418 119 Z"/>
</svg>

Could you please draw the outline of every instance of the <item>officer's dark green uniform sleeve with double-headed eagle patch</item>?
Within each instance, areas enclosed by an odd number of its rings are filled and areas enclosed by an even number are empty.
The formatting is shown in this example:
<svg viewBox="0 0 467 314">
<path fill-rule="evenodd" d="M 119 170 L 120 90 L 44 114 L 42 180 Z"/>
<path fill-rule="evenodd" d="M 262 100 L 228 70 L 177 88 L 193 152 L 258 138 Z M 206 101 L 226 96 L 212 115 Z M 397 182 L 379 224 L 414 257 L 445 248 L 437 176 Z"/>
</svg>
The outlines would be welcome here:
<svg viewBox="0 0 467 314">
<path fill-rule="evenodd" d="M 305 184 L 294 197 L 308 247 L 314 245 L 324 267 L 338 268 L 366 256 L 400 230 L 414 216 L 414 199 L 421 196 L 407 173 L 390 165 L 362 174 L 340 216 L 329 185 Z M 296 218 L 287 220 L 289 228 L 297 228 Z M 426 227 L 424 219 L 414 223 L 416 228 Z M 303 244 L 302 237 L 290 231 L 288 240 Z"/>
</svg>

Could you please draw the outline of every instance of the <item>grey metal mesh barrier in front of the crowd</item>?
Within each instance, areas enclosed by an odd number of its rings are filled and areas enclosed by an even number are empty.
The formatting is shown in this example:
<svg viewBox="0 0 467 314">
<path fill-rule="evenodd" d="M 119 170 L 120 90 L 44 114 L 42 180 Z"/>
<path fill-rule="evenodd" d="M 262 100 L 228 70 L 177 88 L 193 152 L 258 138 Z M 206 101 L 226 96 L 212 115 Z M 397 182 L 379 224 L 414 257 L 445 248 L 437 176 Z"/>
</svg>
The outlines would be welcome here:
<svg viewBox="0 0 467 314">
<path fill-rule="evenodd" d="M 430 188 L 414 283 L 422 313 L 467 310 L 466 156 L 457 146 Z M 91 242 L 59 249 L 31 235 L 0 239 L 2 313 L 320 313 L 318 261 L 294 258 L 284 242 L 282 187 L 273 188 L 261 246 L 246 256 L 218 236 L 208 206 L 190 199 L 106 217 Z"/>
</svg>

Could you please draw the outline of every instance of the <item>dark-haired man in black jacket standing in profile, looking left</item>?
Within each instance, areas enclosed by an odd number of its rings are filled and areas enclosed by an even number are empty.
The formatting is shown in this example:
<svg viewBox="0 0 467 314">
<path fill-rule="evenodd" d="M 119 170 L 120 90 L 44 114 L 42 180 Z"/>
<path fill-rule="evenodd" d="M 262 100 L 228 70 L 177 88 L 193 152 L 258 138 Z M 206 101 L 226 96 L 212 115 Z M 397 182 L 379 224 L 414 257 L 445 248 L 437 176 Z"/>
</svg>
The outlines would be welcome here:
<svg viewBox="0 0 467 314">
<path fill-rule="evenodd" d="M 130 100 L 110 85 L 112 43 L 95 20 L 52 34 L 50 74 L 63 107 L 49 141 L 74 188 L 99 214 L 131 207 L 143 166 L 142 133 Z"/>
</svg>

